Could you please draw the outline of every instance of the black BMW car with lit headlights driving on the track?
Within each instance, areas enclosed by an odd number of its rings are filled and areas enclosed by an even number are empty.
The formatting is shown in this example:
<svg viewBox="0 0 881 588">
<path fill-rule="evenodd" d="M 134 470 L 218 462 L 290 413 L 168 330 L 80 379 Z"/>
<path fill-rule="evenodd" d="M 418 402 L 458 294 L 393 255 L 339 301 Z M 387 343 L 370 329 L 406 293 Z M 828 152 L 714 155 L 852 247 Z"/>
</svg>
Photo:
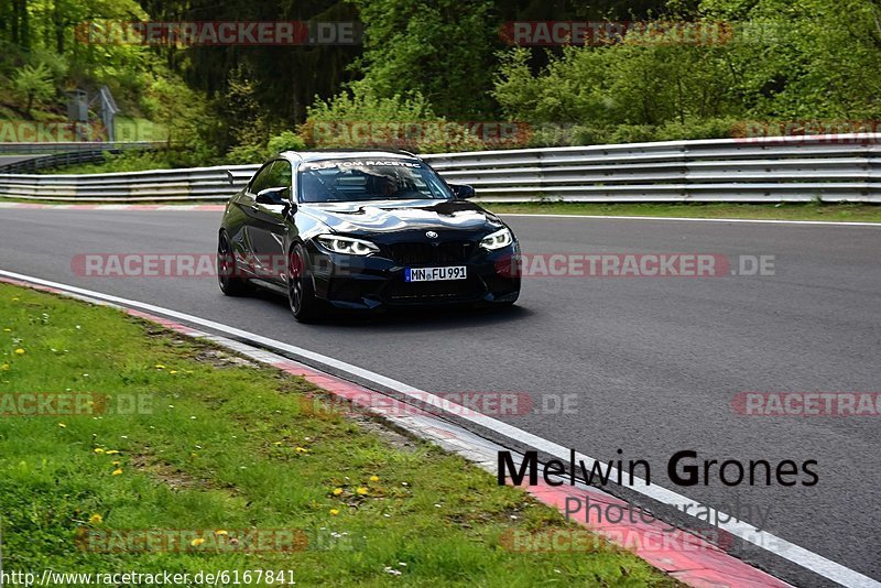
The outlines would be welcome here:
<svg viewBox="0 0 881 588">
<path fill-rule="evenodd" d="M 283 293 L 298 320 L 334 308 L 513 304 L 511 229 L 402 151 L 284 152 L 226 206 L 218 280 Z"/>
</svg>

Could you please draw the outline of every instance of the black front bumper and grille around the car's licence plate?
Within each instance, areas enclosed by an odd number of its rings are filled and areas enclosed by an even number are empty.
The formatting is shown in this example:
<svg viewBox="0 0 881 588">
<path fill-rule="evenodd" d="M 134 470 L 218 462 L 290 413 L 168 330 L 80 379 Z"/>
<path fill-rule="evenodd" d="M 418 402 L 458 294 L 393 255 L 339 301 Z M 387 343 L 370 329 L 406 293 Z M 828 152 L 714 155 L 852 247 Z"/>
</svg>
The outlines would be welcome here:
<svg viewBox="0 0 881 588">
<path fill-rule="evenodd" d="M 498 251 L 477 250 L 463 261 L 404 264 L 384 254 L 368 257 L 330 253 L 308 243 L 315 294 L 337 308 L 504 303 L 520 294 L 514 268 L 518 243 Z M 406 268 L 465 265 L 468 277 L 406 282 Z"/>
</svg>

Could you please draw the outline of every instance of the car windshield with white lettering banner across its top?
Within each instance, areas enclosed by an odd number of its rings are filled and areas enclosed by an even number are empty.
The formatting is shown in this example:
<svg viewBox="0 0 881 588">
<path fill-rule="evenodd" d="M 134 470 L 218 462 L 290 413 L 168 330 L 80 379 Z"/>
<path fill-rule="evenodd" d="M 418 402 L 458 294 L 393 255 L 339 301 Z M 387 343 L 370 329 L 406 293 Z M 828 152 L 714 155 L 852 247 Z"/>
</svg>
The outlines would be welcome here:
<svg viewBox="0 0 881 588">
<path fill-rule="evenodd" d="M 300 166 L 300 202 L 450 199 L 427 165 L 412 160 L 324 160 Z"/>
</svg>

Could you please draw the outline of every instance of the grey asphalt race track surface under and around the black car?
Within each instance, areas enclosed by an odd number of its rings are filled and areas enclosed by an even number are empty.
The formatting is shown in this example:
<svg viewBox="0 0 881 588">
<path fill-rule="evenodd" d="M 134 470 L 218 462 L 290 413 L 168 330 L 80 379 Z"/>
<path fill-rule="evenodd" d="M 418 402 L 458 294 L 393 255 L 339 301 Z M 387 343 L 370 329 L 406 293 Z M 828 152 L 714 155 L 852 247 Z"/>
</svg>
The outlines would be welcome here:
<svg viewBox="0 0 881 588">
<path fill-rule="evenodd" d="M 213 279 L 84 277 L 78 253 L 213 253 L 219 213 L 0 209 L 0 269 L 124 296 L 286 341 L 432 392 L 577 394 L 574 414 L 502 420 L 600 460 L 645 459 L 652 481 L 881 579 L 879 416 L 743 416 L 739 392 L 881 391 L 881 227 L 674 220 L 508 220 L 527 253 L 774 255 L 775 273 L 524 277 L 509 311 L 300 325 L 286 302 L 227 298 Z M 666 462 L 815 459 L 814 487 L 673 487 Z M 747 520 L 759 524 L 753 518 Z M 761 554 L 753 558 L 765 566 Z M 777 571 L 780 571 L 777 569 Z M 784 579 L 822 585 L 813 575 Z"/>
</svg>

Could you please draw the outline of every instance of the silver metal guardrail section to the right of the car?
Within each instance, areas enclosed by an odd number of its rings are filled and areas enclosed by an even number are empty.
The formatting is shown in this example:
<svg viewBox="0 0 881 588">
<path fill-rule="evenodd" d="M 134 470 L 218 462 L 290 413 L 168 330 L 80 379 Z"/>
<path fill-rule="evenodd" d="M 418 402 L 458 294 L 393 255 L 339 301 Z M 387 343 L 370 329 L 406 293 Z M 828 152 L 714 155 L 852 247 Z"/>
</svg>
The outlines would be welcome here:
<svg viewBox="0 0 881 588">
<path fill-rule="evenodd" d="M 426 157 L 486 202 L 881 203 L 873 134 L 720 139 Z"/>
</svg>

